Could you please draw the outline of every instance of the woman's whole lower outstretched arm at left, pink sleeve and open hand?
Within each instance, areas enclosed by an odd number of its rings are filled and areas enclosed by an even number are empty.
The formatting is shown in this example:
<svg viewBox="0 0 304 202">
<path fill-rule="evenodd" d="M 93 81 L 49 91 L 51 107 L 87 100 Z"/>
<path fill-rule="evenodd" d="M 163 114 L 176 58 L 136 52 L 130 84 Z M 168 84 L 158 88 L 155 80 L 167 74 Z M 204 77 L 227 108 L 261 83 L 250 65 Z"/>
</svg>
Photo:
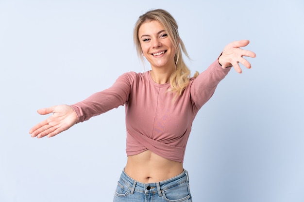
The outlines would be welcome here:
<svg viewBox="0 0 304 202">
<path fill-rule="evenodd" d="M 31 128 L 31 136 L 37 138 L 53 137 L 68 130 L 76 123 L 123 105 L 128 100 L 131 91 L 130 79 L 134 79 L 132 76 L 135 76 L 135 73 L 126 73 L 120 76 L 109 89 L 94 93 L 84 101 L 74 105 L 58 105 L 39 109 L 37 112 L 41 115 L 53 114 Z"/>
</svg>

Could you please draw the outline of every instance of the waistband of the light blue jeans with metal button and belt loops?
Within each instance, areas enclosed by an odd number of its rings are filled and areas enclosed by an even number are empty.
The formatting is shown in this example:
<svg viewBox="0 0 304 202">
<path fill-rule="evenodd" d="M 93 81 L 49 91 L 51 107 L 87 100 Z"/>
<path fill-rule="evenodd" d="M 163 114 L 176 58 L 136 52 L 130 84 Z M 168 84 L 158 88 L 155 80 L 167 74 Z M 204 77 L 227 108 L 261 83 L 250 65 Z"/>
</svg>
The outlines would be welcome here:
<svg viewBox="0 0 304 202">
<path fill-rule="evenodd" d="M 189 175 L 186 170 L 184 170 L 181 174 L 172 177 L 168 180 L 164 180 L 161 182 L 156 182 L 156 183 L 140 183 L 137 182 L 136 180 L 132 179 L 130 176 L 128 176 L 125 171 L 123 170 L 121 175 L 120 175 L 120 180 L 125 183 L 126 185 L 131 187 L 131 194 L 134 193 L 134 191 L 142 192 L 142 193 L 151 193 L 151 192 L 158 192 L 159 196 L 162 196 L 162 191 L 163 189 L 167 189 L 171 187 L 172 185 L 178 185 L 180 183 L 183 183 L 185 181 L 189 182 Z"/>
</svg>

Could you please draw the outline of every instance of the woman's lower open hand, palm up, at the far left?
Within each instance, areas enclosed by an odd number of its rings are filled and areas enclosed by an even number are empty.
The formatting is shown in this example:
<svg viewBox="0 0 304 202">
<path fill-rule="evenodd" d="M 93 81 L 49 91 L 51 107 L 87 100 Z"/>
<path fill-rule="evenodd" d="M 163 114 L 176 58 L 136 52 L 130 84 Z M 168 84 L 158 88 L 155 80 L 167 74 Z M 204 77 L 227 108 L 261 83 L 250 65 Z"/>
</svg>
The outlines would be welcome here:
<svg viewBox="0 0 304 202">
<path fill-rule="evenodd" d="M 36 124 L 31 128 L 31 136 L 43 138 L 48 136 L 51 138 L 77 123 L 77 115 L 74 109 L 68 105 L 57 105 L 51 108 L 38 109 L 41 115 L 53 113 L 49 118 Z"/>
</svg>

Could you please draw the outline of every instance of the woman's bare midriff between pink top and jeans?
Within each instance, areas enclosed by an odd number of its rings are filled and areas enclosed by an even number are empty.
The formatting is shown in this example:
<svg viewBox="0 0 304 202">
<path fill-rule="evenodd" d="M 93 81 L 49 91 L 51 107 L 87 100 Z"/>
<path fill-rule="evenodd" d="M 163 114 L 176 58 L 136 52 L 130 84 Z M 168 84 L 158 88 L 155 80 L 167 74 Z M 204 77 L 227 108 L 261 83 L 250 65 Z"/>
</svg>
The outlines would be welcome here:
<svg viewBox="0 0 304 202">
<path fill-rule="evenodd" d="M 124 169 L 127 175 L 140 183 L 161 182 L 181 174 L 183 163 L 172 161 L 146 150 L 138 155 L 128 156 Z"/>
</svg>

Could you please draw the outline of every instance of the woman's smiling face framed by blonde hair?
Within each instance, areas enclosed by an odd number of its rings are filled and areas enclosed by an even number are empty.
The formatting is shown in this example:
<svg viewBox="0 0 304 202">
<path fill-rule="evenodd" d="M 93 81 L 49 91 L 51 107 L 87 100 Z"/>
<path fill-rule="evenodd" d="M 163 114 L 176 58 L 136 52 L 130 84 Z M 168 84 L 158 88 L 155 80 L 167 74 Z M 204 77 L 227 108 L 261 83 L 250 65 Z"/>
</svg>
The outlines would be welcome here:
<svg viewBox="0 0 304 202">
<path fill-rule="evenodd" d="M 164 27 L 158 21 L 144 22 L 138 30 L 138 37 L 143 56 L 150 62 L 152 69 L 175 69 L 176 49 Z"/>
</svg>

